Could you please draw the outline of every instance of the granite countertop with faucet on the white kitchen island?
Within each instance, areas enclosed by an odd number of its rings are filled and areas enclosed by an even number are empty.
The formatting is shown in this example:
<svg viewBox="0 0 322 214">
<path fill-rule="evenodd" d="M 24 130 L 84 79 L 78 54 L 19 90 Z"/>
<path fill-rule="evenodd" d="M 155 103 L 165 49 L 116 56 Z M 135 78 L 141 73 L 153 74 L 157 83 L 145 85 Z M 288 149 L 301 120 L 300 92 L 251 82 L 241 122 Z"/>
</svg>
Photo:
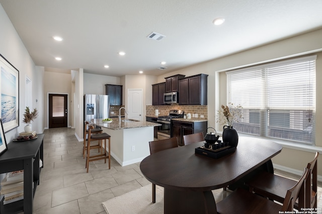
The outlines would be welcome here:
<svg viewBox="0 0 322 214">
<path fill-rule="evenodd" d="M 160 124 L 146 122 L 146 121 L 135 121 L 135 122 L 122 122 L 123 119 L 121 119 L 121 122 L 119 122 L 118 118 L 113 118 L 113 122 L 109 124 L 105 124 L 102 121 L 103 119 L 93 119 L 91 122 L 95 125 L 112 129 L 112 130 L 120 130 L 120 129 L 135 129 L 135 128 L 141 128 L 141 127 L 154 127 L 154 126 L 161 126 Z"/>
</svg>

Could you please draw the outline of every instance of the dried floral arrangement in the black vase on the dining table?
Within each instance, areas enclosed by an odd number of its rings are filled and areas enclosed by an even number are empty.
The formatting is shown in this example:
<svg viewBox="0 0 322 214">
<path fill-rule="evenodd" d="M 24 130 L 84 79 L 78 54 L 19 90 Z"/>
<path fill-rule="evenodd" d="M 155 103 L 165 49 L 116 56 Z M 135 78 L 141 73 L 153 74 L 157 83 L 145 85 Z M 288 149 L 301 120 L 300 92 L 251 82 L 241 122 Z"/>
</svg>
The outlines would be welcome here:
<svg viewBox="0 0 322 214">
<path fill-rule="evenodd" d="M 226 106 L 221 105 L 221 110 L 218 110 L 217 123 L 232 127 L 234 123 L 239 122 L 239 119 L 243 118 L 240 109 L 243 109 L 241 105 L 234 106 L 231 102 Z"/>
</svg>

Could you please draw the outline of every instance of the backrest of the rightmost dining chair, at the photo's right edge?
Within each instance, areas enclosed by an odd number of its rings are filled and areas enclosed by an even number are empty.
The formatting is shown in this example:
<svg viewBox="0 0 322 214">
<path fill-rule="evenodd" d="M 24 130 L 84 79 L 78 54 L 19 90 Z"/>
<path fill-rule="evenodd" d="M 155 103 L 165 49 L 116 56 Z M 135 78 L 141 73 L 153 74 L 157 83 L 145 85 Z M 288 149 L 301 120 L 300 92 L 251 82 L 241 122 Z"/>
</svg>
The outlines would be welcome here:
<svg viewBox="0 0 322 214">
<path fill-rule="evenodd" d="M 317 158 L 319 153 L 315 153 L 314 159 L 306 166 L 308 169 L 305 180 L 305 208 L 316 208 L 317 205 Z"/>
</svg>

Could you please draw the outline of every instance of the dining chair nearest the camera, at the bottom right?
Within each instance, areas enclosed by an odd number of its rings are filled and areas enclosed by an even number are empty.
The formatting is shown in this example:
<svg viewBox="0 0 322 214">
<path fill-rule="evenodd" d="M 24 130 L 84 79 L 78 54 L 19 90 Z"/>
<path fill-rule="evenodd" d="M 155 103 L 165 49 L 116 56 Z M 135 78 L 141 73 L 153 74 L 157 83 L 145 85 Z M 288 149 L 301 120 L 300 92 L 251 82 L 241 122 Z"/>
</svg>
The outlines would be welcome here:
<svg viewBox="0 0 322 214">
<path fill-rule="evenodd" d="M 304 172 L 296 182 L 295 186 L 285 191 L 285 199 L 283 204 L 269 200 L 258 194 L 247 191 L 243 188 L 237 188 L 230 195 L 216 203 L 217 212 L 224 213 L 285 213 L 293 211 L 296 198 L 304 198 L 305 178 L 308 169 L 304 168 Z M 292 212 L 293 213 L 293 212 Z"/>
</svg>

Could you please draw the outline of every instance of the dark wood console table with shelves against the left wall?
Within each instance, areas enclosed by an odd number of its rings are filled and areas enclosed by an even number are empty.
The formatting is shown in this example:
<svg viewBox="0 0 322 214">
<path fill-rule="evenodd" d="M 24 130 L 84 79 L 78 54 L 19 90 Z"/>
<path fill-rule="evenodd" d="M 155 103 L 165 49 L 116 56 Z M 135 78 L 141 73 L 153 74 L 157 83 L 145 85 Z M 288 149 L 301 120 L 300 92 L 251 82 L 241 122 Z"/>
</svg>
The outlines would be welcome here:
<svg viewBox="0 0 322 214">
<path fill-rule="evenodd" d="M 34 140 L 9 143 L 8 150 L 0 156 L 0 173 L 24 170 L 24 199 L 6 205 L 2 200 L 0 213 L 33 212 L 34 193 L 39 185 L 39 159 L 44 161 L 44 134 L 37 136 Z"/>
</svg>

